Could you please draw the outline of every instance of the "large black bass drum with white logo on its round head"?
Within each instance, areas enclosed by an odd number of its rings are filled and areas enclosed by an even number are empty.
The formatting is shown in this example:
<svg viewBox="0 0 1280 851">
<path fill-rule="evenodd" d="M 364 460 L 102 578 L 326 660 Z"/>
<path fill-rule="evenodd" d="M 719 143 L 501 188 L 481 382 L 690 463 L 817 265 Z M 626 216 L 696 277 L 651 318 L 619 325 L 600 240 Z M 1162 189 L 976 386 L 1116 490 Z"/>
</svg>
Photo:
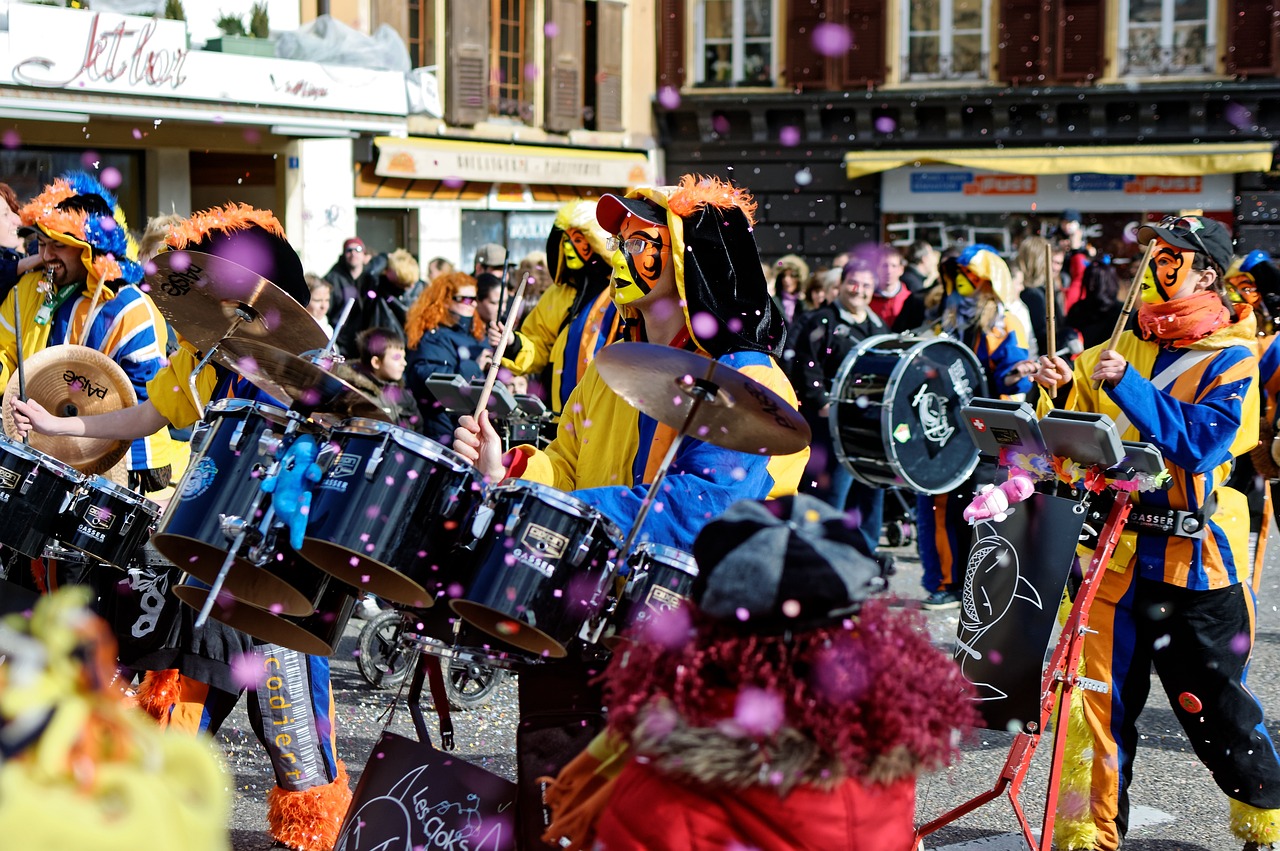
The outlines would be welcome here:
<svg viewBox="0 0 1280 851">
<path fill-rule="evenodd" d="M 881 334 L 845 357 L 831 386 L 840 463 L 873 488 L 955 490 L 978 466 L 960 408 L 987 395 L 973 351 L 951 338 Z"/>
</svg>

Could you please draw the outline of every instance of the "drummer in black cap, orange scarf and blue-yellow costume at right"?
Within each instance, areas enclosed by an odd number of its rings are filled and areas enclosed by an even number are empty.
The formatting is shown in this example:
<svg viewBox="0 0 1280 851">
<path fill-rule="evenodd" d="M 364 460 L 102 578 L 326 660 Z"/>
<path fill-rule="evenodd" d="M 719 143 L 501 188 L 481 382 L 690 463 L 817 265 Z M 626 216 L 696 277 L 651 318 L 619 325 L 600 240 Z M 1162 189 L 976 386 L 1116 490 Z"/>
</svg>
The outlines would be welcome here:
<svg viewBox="0 0 1280 851">
<path fill-rule="evenodd" d="M 1055 838 L 1061 848 L 1101 851 L 1123 841 L 1138 717 L 1155 668 L 1229 799 L 1231 831 L 1247 847 L 1266 847 L 1280 841 L 1280 759 L 1245 683 L 1254 607 L 1248 505 L 1224 485 L 1233 458 L 1257 444 L 1257 325 L 1249 305 L 1233 310 L 1225 301 L 1231 237 L 1222 224 L 1170 216 L 1138 238 L 1156 241 L 1138 330 L 1114 349 L 1088 349 L 1074 371 L 1041 358 L 1037 374 L 1056 390 L 1042 397 L 1042 411 L 1057 403 L 1110 415 L 1124 439 L 1158 447 L 1172 476 L 1170 489 L 1142 494 L 1143 512 L 1167 518 L 1169 531 L 1125 532 L 1102 571 L 1084 676 L 1110 691 L 1083 694 L 1089 735 L 1069 738 L 1068 759 L 1088 767 L 1092 788 L 1062 788 Z M 1234 636 L 1230 646 L 1221 636 Z"/>
</svg>

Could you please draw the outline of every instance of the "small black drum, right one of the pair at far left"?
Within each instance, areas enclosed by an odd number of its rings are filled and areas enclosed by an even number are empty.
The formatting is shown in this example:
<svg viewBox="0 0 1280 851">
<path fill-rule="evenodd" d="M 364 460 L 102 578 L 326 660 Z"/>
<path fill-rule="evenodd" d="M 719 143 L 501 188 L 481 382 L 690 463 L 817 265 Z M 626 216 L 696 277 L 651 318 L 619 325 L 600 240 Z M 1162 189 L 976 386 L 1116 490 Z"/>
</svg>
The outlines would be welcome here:
<svg viewBox="0 0 1280 851">
<path fill-rule="evenodd" d="M 54 523 L 63 546 L 125 569 L 151 536 L 160 507 L 102 476 L 90 476 Z"/>
</svg>

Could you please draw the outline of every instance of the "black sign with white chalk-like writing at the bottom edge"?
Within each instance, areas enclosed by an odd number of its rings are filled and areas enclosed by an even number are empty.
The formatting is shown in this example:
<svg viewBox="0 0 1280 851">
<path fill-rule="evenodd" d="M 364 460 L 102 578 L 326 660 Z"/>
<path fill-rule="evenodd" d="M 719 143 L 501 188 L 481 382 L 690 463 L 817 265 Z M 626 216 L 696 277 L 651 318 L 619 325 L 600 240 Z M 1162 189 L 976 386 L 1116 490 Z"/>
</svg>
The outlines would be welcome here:
<svg viewBox="0 0 1280 851">
<path fill-rule="evenodd" d="M 513 851 L 516 784 L 430 745 L 383 733 L 334 851 Z"/>
</svg>

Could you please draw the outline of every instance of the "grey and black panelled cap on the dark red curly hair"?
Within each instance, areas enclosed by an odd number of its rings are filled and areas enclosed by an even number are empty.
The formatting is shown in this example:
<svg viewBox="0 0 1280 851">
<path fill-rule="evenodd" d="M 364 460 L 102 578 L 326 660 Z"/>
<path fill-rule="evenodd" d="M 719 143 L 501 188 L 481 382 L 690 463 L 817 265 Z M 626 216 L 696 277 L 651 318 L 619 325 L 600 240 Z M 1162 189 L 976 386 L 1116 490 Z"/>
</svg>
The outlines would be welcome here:
<svg viewBox="0 0 1280 851">
<path fill-rule="evenodd" d="M 753 632 L 835 626 L 884 589 L 847 516 L 813 497 L 733 503 L 694 541 L 691 596 Z"/>
</svg>

